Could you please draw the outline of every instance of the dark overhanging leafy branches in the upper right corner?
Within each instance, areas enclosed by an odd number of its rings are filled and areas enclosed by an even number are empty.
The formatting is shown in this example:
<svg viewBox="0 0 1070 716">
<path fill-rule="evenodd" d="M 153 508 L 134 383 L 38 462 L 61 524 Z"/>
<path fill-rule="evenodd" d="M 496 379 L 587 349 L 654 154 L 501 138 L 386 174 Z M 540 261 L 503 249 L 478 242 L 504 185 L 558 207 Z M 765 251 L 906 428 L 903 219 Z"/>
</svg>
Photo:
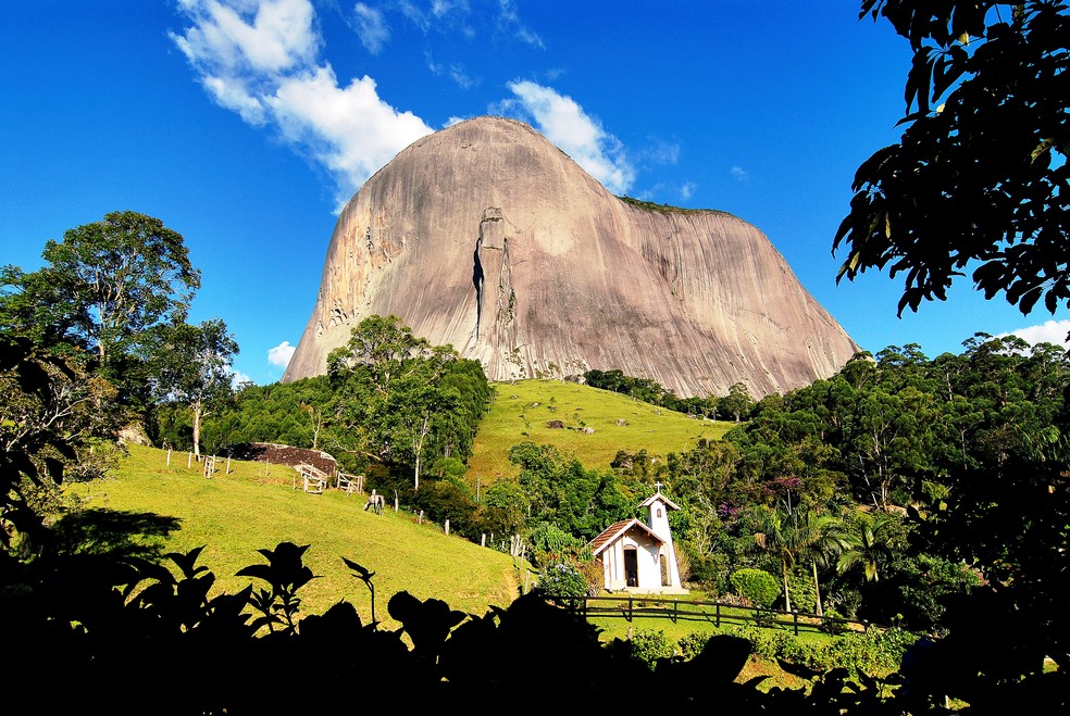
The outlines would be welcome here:
<svg viewBox="0 0 1070 716">
<path fill-rule="evenodd" d="M 1022 313 L 1066 305 L 1070 8 L 862 0 L 867 14 L 887 20 L 913 61 L 901 139 L 855 176 L 839 277 L 903 274 L 899 313 L 944 300 L 968 272 Z"/>
</svg>

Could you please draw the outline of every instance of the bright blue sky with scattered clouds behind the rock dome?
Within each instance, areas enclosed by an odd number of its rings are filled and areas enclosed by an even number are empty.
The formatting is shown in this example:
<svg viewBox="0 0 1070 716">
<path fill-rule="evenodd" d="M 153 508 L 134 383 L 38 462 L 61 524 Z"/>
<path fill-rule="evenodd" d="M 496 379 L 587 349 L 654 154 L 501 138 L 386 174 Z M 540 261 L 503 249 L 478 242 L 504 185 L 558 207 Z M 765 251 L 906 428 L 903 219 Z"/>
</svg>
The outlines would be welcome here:
<svg viewBox="0 0 1070 716">
<path fill-rule="evenodd" d="M 836 285 L 855 169 L 898 137 L 909 53 L 857 0 L 36 0 L 0 3 L 0 264 L 132 210 L 179 231 L 235 370 L 282 377 L 337 211 L 460 118 L 531 123 L 613 193 L 760 228 L 863 349 L 1062 342 L 968 279 L 896 316 Z M 1028 330 L 1027 330 L 1028 329 Z"/>
</svg>

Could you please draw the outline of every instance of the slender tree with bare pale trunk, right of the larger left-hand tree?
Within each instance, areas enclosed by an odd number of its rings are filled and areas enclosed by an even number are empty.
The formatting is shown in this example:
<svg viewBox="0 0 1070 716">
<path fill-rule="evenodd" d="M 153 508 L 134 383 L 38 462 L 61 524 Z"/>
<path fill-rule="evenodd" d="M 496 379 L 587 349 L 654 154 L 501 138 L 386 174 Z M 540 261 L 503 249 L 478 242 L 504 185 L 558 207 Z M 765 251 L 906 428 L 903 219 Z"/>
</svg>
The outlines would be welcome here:
<svg viewBox="0 0 1070 716">
<path fill-rule="evenodd" d="M 159 395 L 186 405 L 192 414 L 194 454 L 200 459 L 201 423 L 234 398 L 231 364 L 238 343 L 221 318 L 191 326 L 181 323 L 161 331 L 154 362 Z"/>
</svg>

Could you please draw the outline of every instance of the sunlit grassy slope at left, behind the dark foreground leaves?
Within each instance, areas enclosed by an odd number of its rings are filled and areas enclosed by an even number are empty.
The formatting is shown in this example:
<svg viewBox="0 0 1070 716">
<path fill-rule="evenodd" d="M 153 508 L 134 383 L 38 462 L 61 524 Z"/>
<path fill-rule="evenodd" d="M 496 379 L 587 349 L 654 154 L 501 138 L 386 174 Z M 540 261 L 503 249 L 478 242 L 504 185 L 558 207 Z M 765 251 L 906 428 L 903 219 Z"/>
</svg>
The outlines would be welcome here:
<svg viewBox="0 0 1070 716">
<path fill-rule="evenodd" d="M 318 579 L 299 593 L 303 613 L 320 614 L 345 599 L 361 618 L 371 618 L 369 591 L 343 563 L 347 557 L 375 573 L 376 617 L 391 629 L 399 625 L 386 604 L 397 591 L 482 616 L 490 604 L 508 605 L 524 578 L 508 555 L 446 536 L 437 526 L 418 525 L 408 513 L 364 512 L 358 493 L 307 494 L 300 482 L 294 489 L 296 472 L 286 466 L 273 465 L 264 475 L 261 463 L 235 461 L 229 474 L 221 464 L 208 478 L 198 463 L 186 467 L 186 453 L 172 454 L 169 466 L 166 451 L 139 445 L 129 451 L 113 477 L 71 485 L 67 494 L 86 507 L 175 518 L 178 529 L 157 538 L 159 543 L 177 552 L 207 545 L 198 564 L 231 593 L 250 582 L 234 577 L 238 569 L 265 562 L 257 550 L 282 541 L 311 545 L 304 562 Z"/>
</svg>

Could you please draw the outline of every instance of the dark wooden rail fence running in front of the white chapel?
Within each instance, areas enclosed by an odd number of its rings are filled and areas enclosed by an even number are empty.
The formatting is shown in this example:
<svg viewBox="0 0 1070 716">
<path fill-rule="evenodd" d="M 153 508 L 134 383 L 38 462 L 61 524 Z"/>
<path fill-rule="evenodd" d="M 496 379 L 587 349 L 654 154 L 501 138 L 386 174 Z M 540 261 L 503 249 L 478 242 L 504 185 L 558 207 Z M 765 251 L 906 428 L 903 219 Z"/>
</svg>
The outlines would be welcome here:
<svg viewBox="0 0 1070 716">
<path fill-rule="evenodd" d="M 680 621 L 706 621 L 723 625 L 755 624 L 767 628 L 794 631 L 867 631 L 874 628 L 866 621 L 839 617 L 799 614 L 756 606 L 736 606 L 723 602 L 690 602 L 646 594 L 619 594 L 613 596 L 557 596 L 555 601 L 584 617 L 621 617 L 632 621 L 635 617 L 655 617 Z"/>
</svg>

